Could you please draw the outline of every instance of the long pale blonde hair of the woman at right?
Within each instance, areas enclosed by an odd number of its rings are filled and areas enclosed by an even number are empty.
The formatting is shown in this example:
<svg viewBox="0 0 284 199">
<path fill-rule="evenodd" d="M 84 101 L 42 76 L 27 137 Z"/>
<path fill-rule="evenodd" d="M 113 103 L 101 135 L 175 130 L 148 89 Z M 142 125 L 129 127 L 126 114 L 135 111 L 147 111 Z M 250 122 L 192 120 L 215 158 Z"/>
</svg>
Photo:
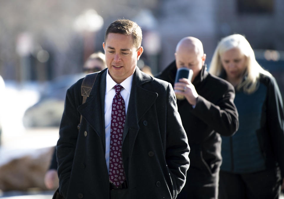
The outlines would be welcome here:
<svg viewBox="0 0 284 199">
<path fill-rule="evenodd" d="M 247 58 L 247 68 L 244 74 L 246 79 L 239 83 L 236 89 L 240 90 L 243 88 L 244 92 L 248 94 L 253 93 L 257 88 L 259 74 L 268 76 L 271 76 L 271 74 L 256 62 L 254 51 L 243 35 L 234 34 L 221 39 L 213 54 L 209 72 L 216 76 L 221 75 L 224 69 L 220 57 L 224 52 L 232 48 L 238 48 Z"/>
</svg>

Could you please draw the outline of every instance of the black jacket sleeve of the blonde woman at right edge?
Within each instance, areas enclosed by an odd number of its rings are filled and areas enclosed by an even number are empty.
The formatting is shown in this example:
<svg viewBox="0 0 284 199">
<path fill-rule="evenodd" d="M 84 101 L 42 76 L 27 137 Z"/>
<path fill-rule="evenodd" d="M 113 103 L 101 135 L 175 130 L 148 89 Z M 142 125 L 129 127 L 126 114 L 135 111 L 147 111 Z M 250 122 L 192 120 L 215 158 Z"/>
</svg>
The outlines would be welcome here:
<svg viewBox="0 0 284 199">
<path fill-rule="evenodd" d="M 274 77 L 260 75 L 259 81 L 267 86 L 261 128 L 258 130 L 260 145 L 267 167 L 279 166 L 284 179 L 284 109 L 281 93 Z"/>
</svg>

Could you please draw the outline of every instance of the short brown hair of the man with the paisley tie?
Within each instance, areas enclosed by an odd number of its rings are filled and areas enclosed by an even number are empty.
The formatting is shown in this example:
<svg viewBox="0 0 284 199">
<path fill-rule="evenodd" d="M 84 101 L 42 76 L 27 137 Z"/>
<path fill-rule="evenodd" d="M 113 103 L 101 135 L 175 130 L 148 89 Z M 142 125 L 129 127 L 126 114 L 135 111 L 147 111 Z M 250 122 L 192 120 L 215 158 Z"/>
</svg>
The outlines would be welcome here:
<svg viewBox="0 0 284 199">
<path fill-rule="evenodd" d="M 109 33 L 120 33 L 123 35 L 132 35 L 133 45 L 138 49 L 142 42 L 142 30 L 137 23 L 127 20 L 119 19 L 112 22 L 106 29 L 106 34 L 104 36 L 104 42 L 106 42 Z"/>
</svg>

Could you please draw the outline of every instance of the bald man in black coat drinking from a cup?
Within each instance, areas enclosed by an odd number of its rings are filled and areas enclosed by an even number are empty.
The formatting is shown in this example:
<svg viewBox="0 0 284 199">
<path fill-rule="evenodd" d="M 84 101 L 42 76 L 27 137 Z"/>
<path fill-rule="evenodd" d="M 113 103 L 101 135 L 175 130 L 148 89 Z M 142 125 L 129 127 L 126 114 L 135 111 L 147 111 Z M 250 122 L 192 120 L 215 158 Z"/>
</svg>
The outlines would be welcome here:
<svg viewBox="0 0 284 199">
<path fill-rule="evenodd" d="M 202 43 L 185 37 L 178 43 L 175 61 L 156 77 L 170 82 L 177 100 L 178 112 L 191 147 L 190 167 L 181 198 L 218 198 L 219 170 L 222 162 L 221 137 L 238 130 L 238 112 L 234 105 L 234 87 L 206 71 L 206 54 Z M 177 69 L 193 70 L 192 80 L 180 79 L 174 84 Z"/>
</svg>

